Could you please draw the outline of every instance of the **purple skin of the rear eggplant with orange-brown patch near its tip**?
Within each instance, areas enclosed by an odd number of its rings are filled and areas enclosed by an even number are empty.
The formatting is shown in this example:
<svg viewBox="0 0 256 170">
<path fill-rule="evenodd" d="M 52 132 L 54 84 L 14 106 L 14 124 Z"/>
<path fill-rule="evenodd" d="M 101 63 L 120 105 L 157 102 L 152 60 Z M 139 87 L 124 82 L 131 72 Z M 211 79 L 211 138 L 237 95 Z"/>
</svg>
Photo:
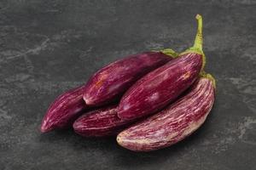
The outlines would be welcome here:
<svg viewBox="0 0 256 170">
<path fill-rule="evenodd" d="M 103 67 L 86 84 L 86 105 L 105 105 L 119 99 L 140 77 L 171 59 L 171 56 L 161 52 L 146 52 L 127 56 Z"/>
</svg>

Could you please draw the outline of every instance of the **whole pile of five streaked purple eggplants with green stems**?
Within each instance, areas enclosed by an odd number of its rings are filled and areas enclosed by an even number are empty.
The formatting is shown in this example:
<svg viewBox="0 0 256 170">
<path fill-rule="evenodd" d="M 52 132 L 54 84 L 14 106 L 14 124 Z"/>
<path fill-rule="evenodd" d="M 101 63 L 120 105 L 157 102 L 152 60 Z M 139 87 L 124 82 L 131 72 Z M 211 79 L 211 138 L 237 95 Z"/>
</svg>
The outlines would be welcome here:
<svg viewBox="0 0 256 170">
<path fill-rule="evenodd" d="M 117 135 L 128 150 L 150 151 L 186 138 L 206 121 L 215 80 L 204 71 L 202 17 L 193 47 L 133 54 L 104 66 L 49 106 L 41 132 L 73 127 L 84 137 Z"/>
</svg>

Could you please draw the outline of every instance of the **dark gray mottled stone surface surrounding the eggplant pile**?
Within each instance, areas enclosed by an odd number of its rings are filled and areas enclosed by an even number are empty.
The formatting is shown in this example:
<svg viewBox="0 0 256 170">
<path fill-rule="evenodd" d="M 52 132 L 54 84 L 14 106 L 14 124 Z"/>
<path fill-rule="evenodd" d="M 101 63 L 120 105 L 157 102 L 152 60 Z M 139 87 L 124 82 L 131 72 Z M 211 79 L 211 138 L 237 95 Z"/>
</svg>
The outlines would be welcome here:
<svg viewBox="0 0 256 170">
<path fill-rule="evenodd" d="M 256 1 L 0 2 L 0 169 L 221 169 L 256 167 Z M 217 98 L 207 122 L 164 150 L 134 153 L 114 138 L 40 134 L 50 102 L 115 59 L 192 45 L 204 19 Z"/>
</svg>

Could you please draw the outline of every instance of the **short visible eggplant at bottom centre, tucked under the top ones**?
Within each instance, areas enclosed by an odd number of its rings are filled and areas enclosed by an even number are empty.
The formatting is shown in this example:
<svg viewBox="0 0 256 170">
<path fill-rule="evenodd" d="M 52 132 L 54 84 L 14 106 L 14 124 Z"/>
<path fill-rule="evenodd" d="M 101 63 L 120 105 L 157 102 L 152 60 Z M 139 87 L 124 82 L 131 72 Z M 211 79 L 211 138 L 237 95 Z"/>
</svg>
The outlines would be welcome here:
<svg viewBox="0 0 256 170">
<path fill-rule="evenodd" d="M 117 105 L 112 105 L 80 116 L 73 123 L 73 129 L 84 137 L 103 137 L 116 135 L 130 124 L 119 119 Z"/>
</svg>

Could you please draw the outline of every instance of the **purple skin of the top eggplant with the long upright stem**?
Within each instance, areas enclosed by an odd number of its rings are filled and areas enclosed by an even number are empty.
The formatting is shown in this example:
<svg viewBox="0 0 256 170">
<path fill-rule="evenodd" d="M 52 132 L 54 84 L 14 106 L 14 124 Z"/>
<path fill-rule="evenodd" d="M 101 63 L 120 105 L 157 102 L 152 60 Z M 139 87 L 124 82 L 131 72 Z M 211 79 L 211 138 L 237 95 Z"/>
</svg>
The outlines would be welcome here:
<svg viewBox="0 0 256 170">
<path fill-rule="evenodd" d="M 119 118 L 133 120 L 160 111 L 195 82 L 201 66 L 201 54 L 189 53 L 151 71 L 122 97 Z"/>
</svg>

